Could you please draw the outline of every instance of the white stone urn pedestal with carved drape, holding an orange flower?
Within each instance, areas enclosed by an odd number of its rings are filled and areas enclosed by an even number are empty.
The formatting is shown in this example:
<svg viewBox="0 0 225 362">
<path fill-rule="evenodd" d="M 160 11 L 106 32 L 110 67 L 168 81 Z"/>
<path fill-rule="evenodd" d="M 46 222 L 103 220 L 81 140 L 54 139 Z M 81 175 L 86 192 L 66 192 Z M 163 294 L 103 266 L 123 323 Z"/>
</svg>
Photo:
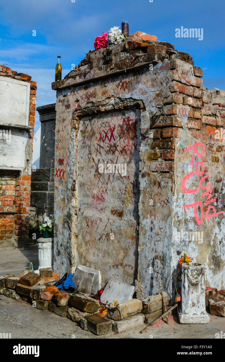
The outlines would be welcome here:
<svg viewBox="0 0 225 362">
<path fill-rule="evenodd" d="M 209 323 L 205 310 L 204 265 L 181 265 L 181 308 L 178 309 L 180 323 Z"/>
</svg>

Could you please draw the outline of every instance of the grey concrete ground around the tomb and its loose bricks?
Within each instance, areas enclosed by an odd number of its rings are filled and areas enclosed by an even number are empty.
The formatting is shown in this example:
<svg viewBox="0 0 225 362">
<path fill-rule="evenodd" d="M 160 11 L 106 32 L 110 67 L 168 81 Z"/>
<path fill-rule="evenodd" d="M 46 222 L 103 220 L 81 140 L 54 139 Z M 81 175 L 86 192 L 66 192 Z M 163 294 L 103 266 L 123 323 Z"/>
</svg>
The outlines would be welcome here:
<svg viewBox="0 0 225 362">
<path fill-rule="evenodd" d="M 29 268 L 33 261 L 34 270 L 38 268 L 36 245 L 27 249 L 0 250 L 0 275 L 17 274 Z M 142 327 L 120 334 L 95 336 L 83 331 L 68 318 L 42 311 L 30 304 L 0 295 L 0 333 L 11 333 L 12 338 L 215 338 L 215 334 L 225 332 L 225 318 L 210 316 L 208 324 L 179 324 L 177 315 L 169 316 L 169 325 L 164 321 L 156 323 L 147 332 L 140 334 Z M 63 323 L 62 323 L 63 322 Z"/>
</svg>

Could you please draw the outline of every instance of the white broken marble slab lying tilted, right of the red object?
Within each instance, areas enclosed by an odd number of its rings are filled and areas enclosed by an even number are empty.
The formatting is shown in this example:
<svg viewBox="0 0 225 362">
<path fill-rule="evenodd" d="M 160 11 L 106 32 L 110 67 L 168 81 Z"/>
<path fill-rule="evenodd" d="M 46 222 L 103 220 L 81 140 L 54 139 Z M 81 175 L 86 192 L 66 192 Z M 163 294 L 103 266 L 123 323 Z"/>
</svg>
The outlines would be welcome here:
<svg viewBox="0 0 225 362">
<path fill-rule="evenodd" d="M 110 279 L 100 296 L 100 300 L 101 303 L 104 304 L 110 304 L 112 301 L 119 304 L 122 302 L 126 302 L 129 299 L 132 299 L 133 294 L 133 285 L 117 282 Z"/>
</svg>

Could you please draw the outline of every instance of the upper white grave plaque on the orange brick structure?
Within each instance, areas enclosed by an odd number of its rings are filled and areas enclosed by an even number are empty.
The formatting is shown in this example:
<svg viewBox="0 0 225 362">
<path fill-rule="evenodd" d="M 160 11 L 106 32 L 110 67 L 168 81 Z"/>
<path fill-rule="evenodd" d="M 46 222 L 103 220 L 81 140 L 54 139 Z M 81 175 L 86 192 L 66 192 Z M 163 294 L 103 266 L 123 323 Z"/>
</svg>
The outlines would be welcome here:
<svg viewBox="0 0 225 362">
<path fill-rule="evenodd" d="M 0 122 L 28 126 L 30 83 L 0 76 Z"/>
</svg>

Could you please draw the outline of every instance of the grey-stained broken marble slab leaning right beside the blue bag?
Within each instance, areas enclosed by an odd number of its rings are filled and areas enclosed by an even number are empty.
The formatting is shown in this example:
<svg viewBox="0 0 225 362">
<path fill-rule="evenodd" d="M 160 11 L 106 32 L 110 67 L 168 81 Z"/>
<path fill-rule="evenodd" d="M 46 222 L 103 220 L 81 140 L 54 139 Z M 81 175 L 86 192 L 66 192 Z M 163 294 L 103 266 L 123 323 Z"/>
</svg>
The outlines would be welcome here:
<svg viewBox="0 0 225 362">
<path fill-rule="evenodd" d="M 79 266 L 75 271 L 73 276 L 73 283 L 76 286 L 76 291 L 78 293 L 85 293 L 85 294 L 93 294 L 93 285 L 94 285 L 94 278 L 96 273 L 91 273 L 90 271 L 84 271 Z"/>
</svg>

